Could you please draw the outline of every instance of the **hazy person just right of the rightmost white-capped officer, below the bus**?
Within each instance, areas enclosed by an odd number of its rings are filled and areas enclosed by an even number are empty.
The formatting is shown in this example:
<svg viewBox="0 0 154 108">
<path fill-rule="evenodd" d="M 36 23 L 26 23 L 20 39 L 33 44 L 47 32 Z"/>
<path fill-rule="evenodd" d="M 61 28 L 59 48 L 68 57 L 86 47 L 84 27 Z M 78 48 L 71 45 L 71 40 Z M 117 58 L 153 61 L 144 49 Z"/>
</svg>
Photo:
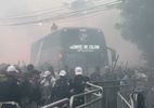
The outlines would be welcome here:
<svg viewBox="0 0 154 108">
<path fill-rule="evenodd" d="M 95 67 L 95 71 L 90 76 L 91 81 L 102 81 L 102 76 L 100 73 L 100 67 Z"/>
</svg>

